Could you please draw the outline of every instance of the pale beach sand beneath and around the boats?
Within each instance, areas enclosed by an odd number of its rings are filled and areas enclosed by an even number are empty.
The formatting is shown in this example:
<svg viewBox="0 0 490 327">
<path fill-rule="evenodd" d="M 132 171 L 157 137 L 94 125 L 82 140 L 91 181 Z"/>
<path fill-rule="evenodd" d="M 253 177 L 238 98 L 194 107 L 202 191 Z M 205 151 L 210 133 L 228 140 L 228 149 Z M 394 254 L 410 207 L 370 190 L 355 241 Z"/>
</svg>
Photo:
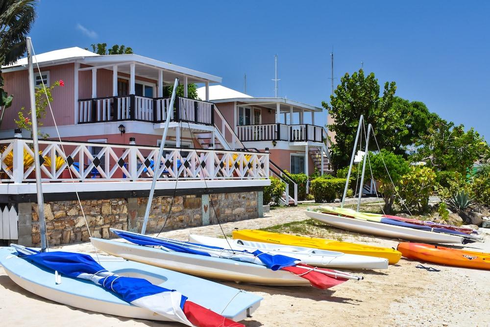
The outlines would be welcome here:
<svg viewBox="0 0 490 327">
<path fill-rule="evenodd" d="M 272 210 L 269 217 L 223 224 L 225 233 L 237 228 L 259 228 L 305 219 L 304 208 Z M 465 247 L 490 252 L 487 243 Z M 218 226 L 202 226 L 162 233 L 186 240 L 190 233 L 220 236 Z M 398 241 L 359 237 L 338 231 L 343 241 L 395 248 Z M 90 243 L 64 246 L 66 251 L 94 252 Z M 417 261 L 401 259 L 387 270 L 355 272 L 362 281 L 349 280 L 328 290 L 313 287 L 267 287 L 224 283 L 264 297 L 246 326 L 490 326 L 490 271 L 453 268 L 427 272 Z M 181 326 L 102 315 L 50 302 L 14 284 L 0 267 L 0 321 L 3 326 Z"/>
</svg>

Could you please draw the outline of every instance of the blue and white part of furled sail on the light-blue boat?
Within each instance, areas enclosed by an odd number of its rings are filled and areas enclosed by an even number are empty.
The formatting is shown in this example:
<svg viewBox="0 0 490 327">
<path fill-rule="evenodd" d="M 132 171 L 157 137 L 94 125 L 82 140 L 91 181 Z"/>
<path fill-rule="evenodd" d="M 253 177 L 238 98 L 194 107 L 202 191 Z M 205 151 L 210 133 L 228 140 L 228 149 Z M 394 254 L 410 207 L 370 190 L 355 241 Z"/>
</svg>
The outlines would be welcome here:
<svg viewBox="0 0 490 327">
<path fill-rule="evenodd" d="M 128 303 L 192 326 L 183 312 L 187 297 L 179 292 L 154 285 L 143 278 L 118 276 L 104 269 L 87 254 L 26 250 L 34 254 L 18 251 L 19 256 L 37 266 L 57 271 L 64 276 L 91 280 Z"/>
</svg>

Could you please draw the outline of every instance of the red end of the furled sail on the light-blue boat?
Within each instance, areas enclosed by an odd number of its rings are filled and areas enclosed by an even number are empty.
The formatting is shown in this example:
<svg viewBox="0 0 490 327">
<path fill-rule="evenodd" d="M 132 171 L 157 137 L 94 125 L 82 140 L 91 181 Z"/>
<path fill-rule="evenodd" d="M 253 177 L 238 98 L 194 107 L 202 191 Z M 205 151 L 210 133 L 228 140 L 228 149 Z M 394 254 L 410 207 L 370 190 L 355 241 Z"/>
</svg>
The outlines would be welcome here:
<svg viewBox="0 0 490 327">
<path fill-rule="evenodd" d="M 197 327 L 245 327 L 191 301 L 184 302 L 184 314 Z"/>
</svg>

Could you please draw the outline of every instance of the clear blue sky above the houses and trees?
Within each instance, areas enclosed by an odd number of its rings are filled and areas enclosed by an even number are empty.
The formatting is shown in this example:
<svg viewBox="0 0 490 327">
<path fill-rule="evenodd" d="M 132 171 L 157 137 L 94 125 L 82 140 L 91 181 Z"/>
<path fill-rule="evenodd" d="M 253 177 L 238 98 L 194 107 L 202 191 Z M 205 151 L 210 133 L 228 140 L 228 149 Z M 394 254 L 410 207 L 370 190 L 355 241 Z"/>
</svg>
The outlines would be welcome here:
<svg viewBox="0 0 490 327">
<path fill-rule="evenodd" d="M 135 53 L 223 77 L 223 85 L 320 106 L 364 62 L 396 94 L 490 138 L 486 1 L 41 1 L 37 53 L 124 44 Z M 348 2 L 348 3 L 347 3 Z M 316 118 L 324 122 L 326 115 Z"/>
</svg>

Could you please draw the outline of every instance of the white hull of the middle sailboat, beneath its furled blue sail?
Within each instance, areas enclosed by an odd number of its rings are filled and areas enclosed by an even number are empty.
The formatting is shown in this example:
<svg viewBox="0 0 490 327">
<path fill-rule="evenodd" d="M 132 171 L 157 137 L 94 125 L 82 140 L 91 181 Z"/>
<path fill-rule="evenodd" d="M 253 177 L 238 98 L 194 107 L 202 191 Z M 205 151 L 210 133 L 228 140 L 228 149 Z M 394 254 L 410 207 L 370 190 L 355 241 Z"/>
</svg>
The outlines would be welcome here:
<svg viewBox="0 0 490 327">
<path fill-rule="evenodd" d="M 287 271 L 272 271 L 265 266 L 205 255 L 164 251 L 112 240 L 91 238 L 103 252 L 128 260 L 162 267 L 198 277 L 246 282 L 257 285 L 309 286 L 310 282 Z"/>
</svg>

